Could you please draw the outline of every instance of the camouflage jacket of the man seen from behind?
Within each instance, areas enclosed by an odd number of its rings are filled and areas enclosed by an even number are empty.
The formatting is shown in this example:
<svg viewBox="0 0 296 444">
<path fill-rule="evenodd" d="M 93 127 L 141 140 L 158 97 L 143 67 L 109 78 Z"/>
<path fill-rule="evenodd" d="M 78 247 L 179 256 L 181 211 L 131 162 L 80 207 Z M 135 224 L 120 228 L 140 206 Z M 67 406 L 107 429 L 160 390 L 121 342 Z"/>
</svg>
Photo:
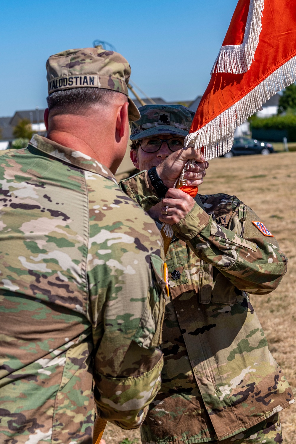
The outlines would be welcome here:
<svg viewBox="0 0 296 444">
<path fill-rule="evenodd" d="M 0 442 L 91 444 L 160 387 L 162 239 L 113 174 L 34 136 L 0 156 Z"/>
</svg>

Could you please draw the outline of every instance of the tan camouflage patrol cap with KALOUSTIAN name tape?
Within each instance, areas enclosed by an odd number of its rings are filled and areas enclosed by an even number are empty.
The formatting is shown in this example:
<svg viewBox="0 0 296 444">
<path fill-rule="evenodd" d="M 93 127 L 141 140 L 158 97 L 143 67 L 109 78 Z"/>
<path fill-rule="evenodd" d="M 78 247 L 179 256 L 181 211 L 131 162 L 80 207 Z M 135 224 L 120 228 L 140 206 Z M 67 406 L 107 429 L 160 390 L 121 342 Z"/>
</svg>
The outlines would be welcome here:
<svg viewBox="0 0 296 444">
<path fill-rule="evenodd" d="M 102 48 L 68 49 L 46 62 L 48 94 L 72 88 L 104 88 L 122 92 L 129 102 L 129 119 L 140 114 L 128 96 L 130 65 L 118 52 Z"/>
</svg>

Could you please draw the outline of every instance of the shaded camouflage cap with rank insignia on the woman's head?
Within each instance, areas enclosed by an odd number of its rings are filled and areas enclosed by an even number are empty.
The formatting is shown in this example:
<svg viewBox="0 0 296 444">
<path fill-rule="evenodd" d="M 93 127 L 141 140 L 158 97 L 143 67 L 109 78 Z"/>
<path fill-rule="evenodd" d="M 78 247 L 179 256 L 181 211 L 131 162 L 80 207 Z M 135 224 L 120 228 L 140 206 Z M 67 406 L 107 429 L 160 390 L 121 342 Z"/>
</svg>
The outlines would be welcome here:
<svg viewBox="0 0 296 444">
<path fill-rule="evenodd" d="M 132 123 L 130 140 L 160 134 L 186 137 L 194 112 L 183 105 L 145 105 L 139 108 L 141 118 Z"/>
</svg>

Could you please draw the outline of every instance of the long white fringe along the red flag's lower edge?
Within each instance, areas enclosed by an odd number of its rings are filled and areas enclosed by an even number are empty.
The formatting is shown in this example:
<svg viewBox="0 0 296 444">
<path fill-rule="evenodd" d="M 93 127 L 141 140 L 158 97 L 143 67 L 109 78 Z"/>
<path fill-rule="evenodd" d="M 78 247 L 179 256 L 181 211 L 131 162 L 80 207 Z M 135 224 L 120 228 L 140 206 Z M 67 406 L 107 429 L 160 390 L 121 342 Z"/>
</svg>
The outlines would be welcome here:
<svg viewBox="0 0 296 444">
<path fill-rule="evenodd" d="M 234 130 L 258 111 L 272 95 L 296 81 L 296 56 L 268 75 L 249 94 L 201 129 L 185 137 L 185 147 L 204 147 L 205 160 L 221 156 L 233 146 Z"/>
</svg>

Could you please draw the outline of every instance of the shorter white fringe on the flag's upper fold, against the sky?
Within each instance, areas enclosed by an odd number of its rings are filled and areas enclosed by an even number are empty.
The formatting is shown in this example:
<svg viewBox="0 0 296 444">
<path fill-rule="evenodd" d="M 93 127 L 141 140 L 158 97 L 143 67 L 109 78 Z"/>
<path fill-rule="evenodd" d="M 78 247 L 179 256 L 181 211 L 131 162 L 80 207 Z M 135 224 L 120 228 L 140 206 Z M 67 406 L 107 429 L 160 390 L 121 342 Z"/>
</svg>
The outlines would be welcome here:
<svg viewBox="0 0 296 444">
<path fill-rule="evenodd" d="M 263 9 L 264 0 L 250 0 L 243 43 L 241 45 L 222 46 L 211 74 L 214 72 L 242 74 L 250 69 L 262 30 Z"/>
</svg>

